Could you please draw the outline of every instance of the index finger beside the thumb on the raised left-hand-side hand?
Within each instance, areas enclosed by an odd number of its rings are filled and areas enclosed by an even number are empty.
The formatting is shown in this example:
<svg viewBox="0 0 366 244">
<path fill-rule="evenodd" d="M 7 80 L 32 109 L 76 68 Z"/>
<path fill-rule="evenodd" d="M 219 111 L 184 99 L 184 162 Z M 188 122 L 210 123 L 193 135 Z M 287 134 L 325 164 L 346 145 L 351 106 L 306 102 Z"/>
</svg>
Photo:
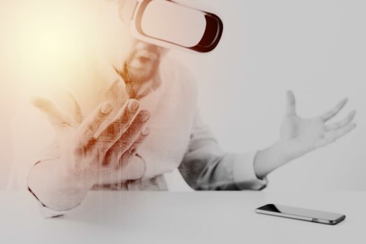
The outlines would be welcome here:
<svg viewBox="0 0 366 244">
<path fill-rule="evenodd" d="M 103 102 L 101 105 L 93 110 L 79 127 L 80 144 L 88 145 L 93 139 L 94 134 L 100 125 L 107 119 L 107 116 L 112 112 L 112 105 L 110 102 Z"/>
</svg>

